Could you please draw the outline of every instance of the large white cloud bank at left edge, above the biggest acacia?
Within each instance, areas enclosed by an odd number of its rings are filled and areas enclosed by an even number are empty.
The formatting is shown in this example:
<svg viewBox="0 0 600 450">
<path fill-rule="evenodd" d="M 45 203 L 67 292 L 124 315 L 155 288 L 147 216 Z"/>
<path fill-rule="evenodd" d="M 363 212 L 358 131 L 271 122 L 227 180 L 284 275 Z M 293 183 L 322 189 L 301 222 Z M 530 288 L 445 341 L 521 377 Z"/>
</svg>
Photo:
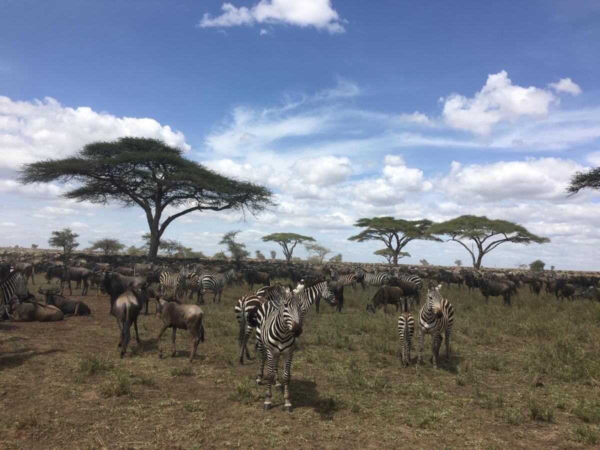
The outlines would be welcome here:
<svg viewBox="0 0 600 450">
<path fill-rule="evenodd" d="M 51 97 L 13 101 L 0 96 L 0 168 L 14 169 L 49 155 L 65 157 L 88 142 L 120 136 L 156 137 L 190 149 L 180 131 L 154 119 L 118 118 L 86 106 L 65 107 Z"/>
</svg>

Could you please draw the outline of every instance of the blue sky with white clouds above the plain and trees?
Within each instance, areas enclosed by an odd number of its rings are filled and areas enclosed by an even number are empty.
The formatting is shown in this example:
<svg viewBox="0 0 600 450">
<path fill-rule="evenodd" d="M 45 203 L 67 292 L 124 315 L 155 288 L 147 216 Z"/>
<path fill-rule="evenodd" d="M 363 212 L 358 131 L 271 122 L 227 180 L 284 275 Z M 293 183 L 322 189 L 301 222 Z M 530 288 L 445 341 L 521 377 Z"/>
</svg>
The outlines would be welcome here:
<svg viewBox="0 0 600 450">
<path fill-rule="evenodd" d="M 484 265 L 541 257 L 600 269 L 589 250 L 599 243 L 596 196 L 563 195 L 572 172 L 600 165 L 597 2 L 223 5 L 2 2 L 0 191 L 13 213 L 0 244 L 43 245 L 61 226 L 83 244 L 99 235 L 139 244 L 139 211 L 11 181 L 20 163 L 139 134 L 280 196 L 258 220 L 196 214 L 167 230 L 208 254 L 220 233 L 241 228 L 250 250 L 271 250 L 260 236 L 289 230 L 347 260 L 377 260 L 376 245 L 346 241 L 356 218 L 468 213 L 553 240 L 500 247 Z M 409 262 L 467 260 L 454 243 L 406 250 Z"/>
</svg>

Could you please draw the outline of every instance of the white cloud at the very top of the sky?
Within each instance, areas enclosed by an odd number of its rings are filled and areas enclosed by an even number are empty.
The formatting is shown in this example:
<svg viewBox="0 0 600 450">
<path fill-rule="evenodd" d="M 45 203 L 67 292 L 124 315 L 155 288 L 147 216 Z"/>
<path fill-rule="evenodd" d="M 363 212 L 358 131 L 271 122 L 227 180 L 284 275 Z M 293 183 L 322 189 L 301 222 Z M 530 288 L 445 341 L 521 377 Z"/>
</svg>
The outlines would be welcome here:
<svg viewBox="0 0 600 450">
<path fill-rule="evenodd" d="M 346 22 L 331 7 L 330 0 L 260 0 L 251 8 L 235 7 L 231 3 L 221 5 L 223 14 L 217 17 L 205 13 L 198 26 L 229 27 L 254 23 L 271 23 L 300 26 L 314 26 L 325 29 L 330 34 L 343 33 L 342 23 Z M 266 30 L 265 30 L 266 31 Z M 263 34 L 262 30 L 260 34 Z"/>
</svg>

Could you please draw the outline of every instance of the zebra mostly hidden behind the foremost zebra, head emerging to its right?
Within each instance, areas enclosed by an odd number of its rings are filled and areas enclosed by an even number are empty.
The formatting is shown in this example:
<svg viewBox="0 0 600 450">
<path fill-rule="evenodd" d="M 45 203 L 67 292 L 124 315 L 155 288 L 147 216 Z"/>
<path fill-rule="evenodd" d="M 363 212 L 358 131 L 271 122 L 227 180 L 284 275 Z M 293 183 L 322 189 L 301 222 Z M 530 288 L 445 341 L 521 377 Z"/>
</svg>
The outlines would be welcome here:
<svg viewBox="0 0 600 450">
<path fill-rule="evenodd" d="M 298 289 L 298 288 L 296 288 Z M 315 301 L 319 301 L 321 297 L 325 299 L 330 305 L 335 306 L 337 303 L 335 302 L 335 296 L 331 290 L 329 290 L 328 284 L 326 281 L 322 281 L 321 283 L 313 284 L 313 286 L 305 287 L 299 293 L 294 293 L 298 297 L 298 300 L 301 304 L 301 311 L 299 316 L 299 324 L 300 326 L 304 325 L 304 316 L 308 313 L 311 305 Z M 258 344 L 259 352 L 260 352 L 260 367 L 259 372 L 256 376 L 256 384 L 260 385 L 263 379 L 263 373 L 265 372 L 265 361 L 266 361 L 266 349 L 261 340 L 261 330 L 262 323 L 272 313 L 276 308 L 279 307 L 278 301 L 269 301 L 265 302 L 256 311 L 256 343 Z M 277 372 L 277 367 L 275 367 L 275 372 Z M 276 388 L 281 386 L 279 382 L 275 385 Z"/>
</svg>

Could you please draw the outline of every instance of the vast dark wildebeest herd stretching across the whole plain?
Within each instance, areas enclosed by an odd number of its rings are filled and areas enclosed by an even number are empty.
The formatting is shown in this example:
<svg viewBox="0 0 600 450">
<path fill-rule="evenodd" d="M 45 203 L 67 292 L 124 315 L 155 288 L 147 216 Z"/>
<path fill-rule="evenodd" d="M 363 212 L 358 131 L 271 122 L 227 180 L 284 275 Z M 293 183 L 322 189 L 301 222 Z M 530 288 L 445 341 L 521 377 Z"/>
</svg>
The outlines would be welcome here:
<svg viewBox="0 0 600 450">
<path fill-rule="evenodd" d="M 334 296 L 334 301 L 328 302 L 335 305 L 337 311 L 344 306 L 344 287 L 356 289 L 357 284 L 362 285 L 362 289 L 370 284 L 379 287 L 368 301 L 367 310 L 374 311 L 380 307 L 388 312 L 388 304 L 395 305 L 398 310 L 408 300 L 410 304 L 416 301 L 418 305 L 421 300 L 421 280 L 427 280 L 430 284 L 456 284 L 469 292 L 478 289 L 485 301 L 489 297 L 501 297 L 508 306 L 511 305 L 511 297 L 517 295 L 518 289 L 524 285 L 535 295 L 600 301 L 600 277 L 592 272 L 476 270 L 383 264 L 357 266 L 331 262 L 311 265 L 282 260 L 164 258 L 148 263 L 126 254 L 65 256 L 52 251 L 34 253 L 14 249 L 4 250 L 0 254 L 0 266 L 3 268 L 0 271 L 2 320 L 50 322 L 72 314 L 91 314 L 81 297 L 86 296 L 92 287 L 95 295 L 107 295 L 110 299 L 104 313 L 112 314 L 118 321 L 122 356 L 127 352 L 130 326 L 134 326 L 139 341 L 137 316 L 142 311 L 148 314 L 149 301 L 154 300 L 157 315 L 164 322 L 161 334 L 167 328 L 188 329 L 193 338 L 193 358 L 198 343 L 204 338 L 204 313 L 197 305 L 203 304 L 204 294 L 211 290 L 214 292 L 213 301 L 217 300 L 217 293 L 220 301 L 223 289 L 233 283 L 247 285 L 248 290 L 253 290 L 254 286 L 271 286 L 277 281 L 277 284 L 290 285 L 289 292 L 293 286 L 298 290 L 325 281 Z M 38 302 L 27 289 L 29 281 L 32 284 L 40 283 L 40 277 L 44 279 L 42 284 L 46 284 L 44 289 L 40 287 L 37 292 L 43 296 L 43 302 Z M 13 280 L 12 287 L 10 278 Z M 14 280 L 24 280 L 25 287 L 18 286 Z M 77 299 L 64 296 L 65 289 L 68 289 L 70 296 L 73 295 L 73 283 L 76 283 L 76 289 L 82 289 Z M 170 295 L 169 291 L 172 291 Z M 262 295 L 265 291 L 259 292 Z M 193 300 L 194 294 L 197 294 L 196 301 Z M 241 300 L 238 300 L 236 309 L 238 322 Z M 318 313 L 319 298 L 316 308 Z"/>
</svg>

